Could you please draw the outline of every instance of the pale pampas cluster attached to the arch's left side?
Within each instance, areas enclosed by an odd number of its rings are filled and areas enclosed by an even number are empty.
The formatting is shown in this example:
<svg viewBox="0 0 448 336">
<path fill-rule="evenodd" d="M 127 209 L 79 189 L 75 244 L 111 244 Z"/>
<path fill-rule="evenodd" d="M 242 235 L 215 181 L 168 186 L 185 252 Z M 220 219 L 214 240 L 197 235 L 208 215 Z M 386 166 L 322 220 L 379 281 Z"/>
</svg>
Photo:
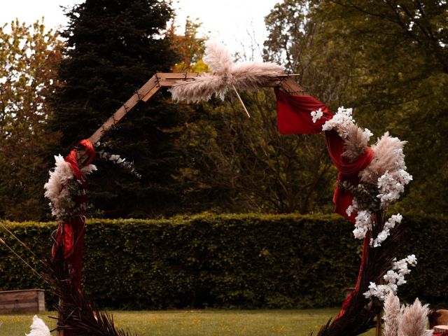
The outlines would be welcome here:
<svg viewBox="0 0 448 336">
<path fill-rule="evenodd" d="M 71 172 L 70 165 L 65 162 L 62 155 L 55 156 L 55 169 L 50 171 L 50 179 L 45 183 L 45 197 L 50 200 L 51 214 L 57 219 L 61 218 L 61 204 L 68 196 L 68 191 L 64 188 L 69 179 L 73 179 L 74 175 Z"/>
</svg>

